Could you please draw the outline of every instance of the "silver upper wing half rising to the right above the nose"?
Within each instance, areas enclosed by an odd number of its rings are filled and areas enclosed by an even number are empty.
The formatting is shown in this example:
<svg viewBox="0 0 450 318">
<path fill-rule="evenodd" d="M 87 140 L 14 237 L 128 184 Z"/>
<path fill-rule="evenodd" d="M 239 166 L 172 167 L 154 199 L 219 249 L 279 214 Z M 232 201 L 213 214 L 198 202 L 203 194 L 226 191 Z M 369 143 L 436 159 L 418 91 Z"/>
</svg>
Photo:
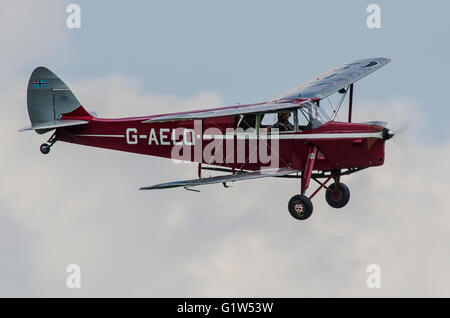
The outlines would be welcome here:
<svg viewBox="0 0 450 318">
<path fill-rule="evenodd" d="M 271 101 L 295 98 L 325 98 L 366 77 L 390 61 L 388 58 L 379 57 L 342 64 L 307 83 L 276 96 Z"/>
</svg>

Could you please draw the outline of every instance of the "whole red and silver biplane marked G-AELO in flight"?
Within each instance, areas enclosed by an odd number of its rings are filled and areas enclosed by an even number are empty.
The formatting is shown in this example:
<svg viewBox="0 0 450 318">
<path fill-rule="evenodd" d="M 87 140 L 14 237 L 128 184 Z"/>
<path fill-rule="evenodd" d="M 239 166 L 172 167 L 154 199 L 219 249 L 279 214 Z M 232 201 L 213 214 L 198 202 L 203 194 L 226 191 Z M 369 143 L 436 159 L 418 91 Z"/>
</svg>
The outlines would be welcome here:
<svg viewBox="0 0 450 318">
<path fill-rule="evenodd" d="M 40 147 L 43 154 L 62 141 L 197 164 L 196 179 L 141 190 L 198 191 L 202 185 L 228 187 L 248 179 L 298 178 L 299 192 L 289 200 L 288 210 L 305 220 L 313 212 L 311 199 L 321 189 L 331 207 L 342 208 L 350 199 L 342 176 L 383 165 L 385 141 L 394 134 L 385 122 L 352 122 L 352 106 L 354 83 L 389 62 L 369 58 L 342 64 L 256 104 L 120 119 L 86 111 L 60 78 L 38 67 L 28 82 L 31 125 L 19 131 L 53 131 Z M 339 108 L 348 96 L 345 122 L 335 120 L 338 109 L 327 112 L 321 103 L 335 93 L 342 96 Z M 204 171 L 222 174 L 205 176 Z M 311 180 L 317 188 L 307 195 Z"/>
</svg>

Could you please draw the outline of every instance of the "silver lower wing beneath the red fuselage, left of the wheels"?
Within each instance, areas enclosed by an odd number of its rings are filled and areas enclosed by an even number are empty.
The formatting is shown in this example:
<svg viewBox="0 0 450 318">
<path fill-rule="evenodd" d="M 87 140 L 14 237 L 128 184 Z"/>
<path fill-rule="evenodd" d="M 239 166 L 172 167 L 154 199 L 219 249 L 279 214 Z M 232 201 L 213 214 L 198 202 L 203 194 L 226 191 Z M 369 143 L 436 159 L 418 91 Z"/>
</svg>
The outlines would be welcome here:
<svg viewBox="0 0 450 318">
<path fill-rule="evenodd" d="M 235 182 L 241 180 L 249 180 L 249 179 L 257 179 L 257 178 L 265 178 L 265 177 L 278 177 L 285 176 L 291 173 L 297 172 L 294 169 L 266 169 L 260 171 L 237 171 L 232 175 L 226 176 L 216 176 L 202 179 L 193 179 L 193 180 L 183 180 L 183 181 L 174 181 L 161 183 L 150 187 L 142 187 L 140 190 L 155 190 L 155 189 L 168 189 L 168 188 L 177 188 L 177 187 L 195 187 L 199 185 L 206 184 L 214 184 L 214 183 L 224 183 L 224 182 Z"/>
</svg>

